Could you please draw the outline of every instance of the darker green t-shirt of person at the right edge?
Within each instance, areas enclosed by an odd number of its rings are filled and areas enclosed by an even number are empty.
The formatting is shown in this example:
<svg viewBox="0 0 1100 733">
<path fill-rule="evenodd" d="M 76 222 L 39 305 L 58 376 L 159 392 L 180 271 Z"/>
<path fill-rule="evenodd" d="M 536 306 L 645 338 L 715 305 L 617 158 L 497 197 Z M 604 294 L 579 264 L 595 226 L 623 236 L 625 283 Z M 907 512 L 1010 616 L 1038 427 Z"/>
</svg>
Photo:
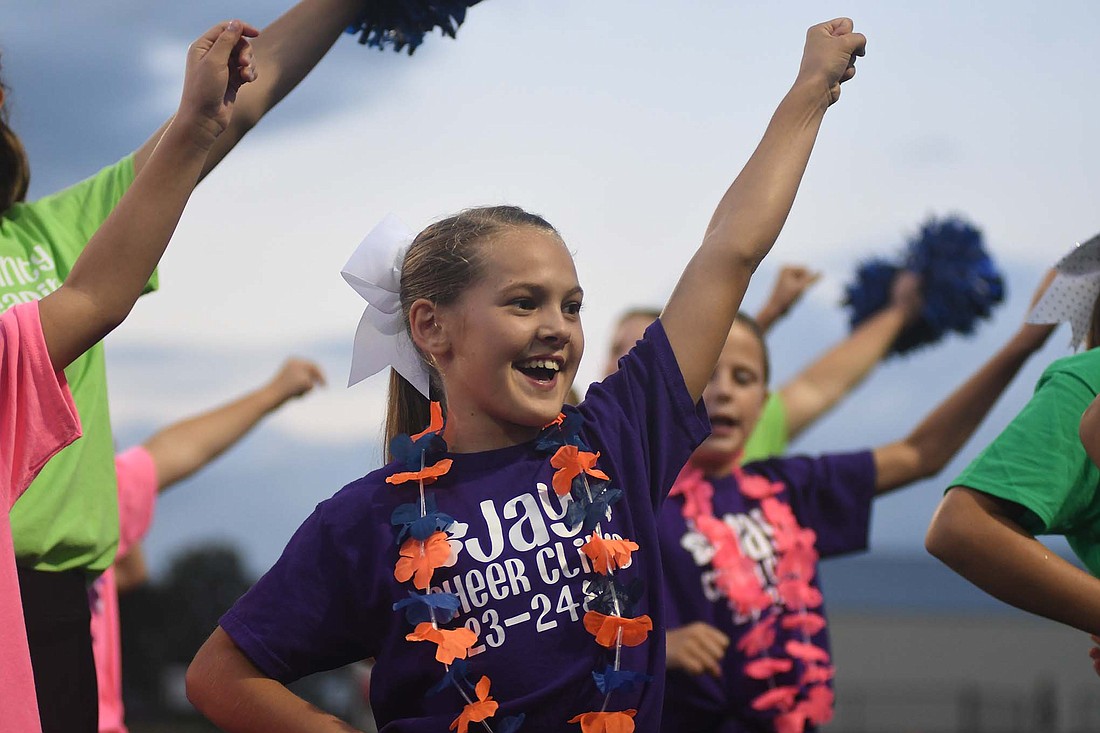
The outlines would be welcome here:
<svg viewBox="0 0 1100 733">
<path fill-rule="evenodd" d="M 1020 504 L 1034 535 L 1064 535 L 1100 577 L 1100 469 L 1078 437 L 1100 392 L 1100 349 L 1059 359 L 1031 402 L 952 483 Z"/>
</svg>

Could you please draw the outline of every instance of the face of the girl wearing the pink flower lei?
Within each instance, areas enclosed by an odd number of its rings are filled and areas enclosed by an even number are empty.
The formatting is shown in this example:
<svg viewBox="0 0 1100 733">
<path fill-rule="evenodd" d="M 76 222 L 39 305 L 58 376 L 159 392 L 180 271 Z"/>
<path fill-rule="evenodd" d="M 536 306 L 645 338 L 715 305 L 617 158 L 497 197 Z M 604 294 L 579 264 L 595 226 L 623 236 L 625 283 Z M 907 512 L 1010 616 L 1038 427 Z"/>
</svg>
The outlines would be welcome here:
<svg viewBox="0 0 1100 733">
<path fill-rule="evenodd" d="M 734 322 L 714 374 L 703 390 L 712 433 L 695 449 L 692 463 L 712 475 L 725 475 L 760 419 L 768 384 L 765 346 L 748 326 Z"/>
</svg>

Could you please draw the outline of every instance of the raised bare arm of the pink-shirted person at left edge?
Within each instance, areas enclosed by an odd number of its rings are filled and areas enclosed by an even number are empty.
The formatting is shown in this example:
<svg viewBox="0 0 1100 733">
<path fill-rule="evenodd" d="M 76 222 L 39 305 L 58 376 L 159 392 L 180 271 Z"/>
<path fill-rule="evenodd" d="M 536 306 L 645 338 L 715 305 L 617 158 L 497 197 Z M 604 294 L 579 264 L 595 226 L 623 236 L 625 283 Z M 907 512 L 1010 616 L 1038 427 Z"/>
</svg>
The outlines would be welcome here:
<svg viewBox="0 0 1100 733">
<path fill-rule="evenodd" d="M 238 88 L 252 75 L 240 58 L 246 55 L 246 36 L 255 34 L 240 21 L 221 23 L 188 50 L 179 110 L 161 144 L 65 283 L 40 303 L 42 331 L 56 369 L 121 324 L 141 295 L 207 154 L 229 125 Z"/>
</svg>

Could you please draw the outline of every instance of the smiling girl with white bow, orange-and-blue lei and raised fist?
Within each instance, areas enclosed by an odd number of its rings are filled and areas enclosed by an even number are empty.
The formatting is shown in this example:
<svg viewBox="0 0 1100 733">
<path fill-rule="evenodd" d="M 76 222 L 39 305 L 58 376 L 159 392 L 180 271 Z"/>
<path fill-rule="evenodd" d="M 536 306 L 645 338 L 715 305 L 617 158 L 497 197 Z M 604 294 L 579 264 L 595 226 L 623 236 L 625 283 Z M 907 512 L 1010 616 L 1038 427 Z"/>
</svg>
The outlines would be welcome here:
<svg viewBox="0 0 1100 733">
<path fill-rule="evenodd" d="M 656 507 L 706 435 L 696 401 L 864 44 L 847 19 L 810 30 L 660 320 L 564 414 L 582 291 L 550 225 L 475 209 L 397 256 L 372 249 L 392 222 L 372 232 L 361 259 L 380 265 L 353 277 L 371 303 L 361 329 L 405 335 L 394 353 L 418 361 L 397 365 L 446 408 L 318 506 L 199 650 L 191 701 L 228 731 L 346 731 L 284 683 L 373 656 L 387 732 L 656 731 Z M 424 428 L 426 407 L 396 379 L 391 434 Z"/>
</svg>

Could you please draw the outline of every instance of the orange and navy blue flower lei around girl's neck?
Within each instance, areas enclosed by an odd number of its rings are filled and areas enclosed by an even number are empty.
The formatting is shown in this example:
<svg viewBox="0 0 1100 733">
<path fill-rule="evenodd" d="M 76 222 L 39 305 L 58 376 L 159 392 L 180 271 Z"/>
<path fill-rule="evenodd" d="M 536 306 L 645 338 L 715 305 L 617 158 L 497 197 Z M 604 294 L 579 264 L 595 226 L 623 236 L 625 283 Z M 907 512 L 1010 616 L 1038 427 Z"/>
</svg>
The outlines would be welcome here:
<svg viewBox="0 0 1100 733">
<path fill-rule="evenodd" d="M 586 591 L 587 604 L 593 610 L 584 614 L 584 628 L 612 655 L 608 664 L 592 672 L 596 687 L 604 694 L 603 707 L 575 715 L 569 722 L 579 723 L 582 733 L 632 733 L 637 711 L 608 711 L 607 707 L 616 690 L 628 691 L 652 679 L 620 666 L 623 647 L 641 644 L 652 630 L 648 615 L 632 615 L 634 605 L 641 595 L 641 580 L 623 583 L 615 578 L 616 570 L 629 565 L 638 545 L 604 534 L 601 522 L 609 516 L 612 504 L 622 497 L 623 491 L 610 485 L 609 477 L 596 468 L 600 453 L 592 452 L 580 438 L 584 418 L 571 407 L 564 409 L 565 413 L 542 429 L 535 447 L 539 452 L 552 455 L 554 492 L 572 497 L 564 521 L 572 527 L 581 525 L 582 532 L 588 535 L 581 550 L 594 571 L 588 576 Z M 416 589 L 409 591 L 408 598 L 394 603 L 394 610 L 404 610 L 406 620 L 414 626 L 405 637 L 407 641 L 437 645 L 436 659 L 446 671 L 429 694 L 453 687 L 466 701 L 450 730 L 468 733 L 471 723 L 480 723 L 488 733 L 516 733 L 522 725 L 524 714 L 503 718 L 491 726 L 488 719 L 499 707 L 490 696 L 492 682 L 484 675 L 476 683 L 468 677 L 465 659 L 477 643 L 477 634 L 465 626 L 443 626 L 459 615 L 459 597 L 431 591 L 432 573 L 450 557 L 450 529 L 454 523 L 454 518 L 438 511 L 435 493 L 426 491 L 426 486 L 451 469 L 451 459 L 435 460 L 447 452 L 442 431 L 442 409 L 433 402 L 431 423 L 422 433 L 397 436 L 391 444 L 391 452 L 407 470 L 388 477 L 386 483 L 415 483 L 419 488 L 418 501 L 398 505 L 391 517 L 399 546 L 394 578 L 398 582 L 411 581 Z"/>
</svg>

